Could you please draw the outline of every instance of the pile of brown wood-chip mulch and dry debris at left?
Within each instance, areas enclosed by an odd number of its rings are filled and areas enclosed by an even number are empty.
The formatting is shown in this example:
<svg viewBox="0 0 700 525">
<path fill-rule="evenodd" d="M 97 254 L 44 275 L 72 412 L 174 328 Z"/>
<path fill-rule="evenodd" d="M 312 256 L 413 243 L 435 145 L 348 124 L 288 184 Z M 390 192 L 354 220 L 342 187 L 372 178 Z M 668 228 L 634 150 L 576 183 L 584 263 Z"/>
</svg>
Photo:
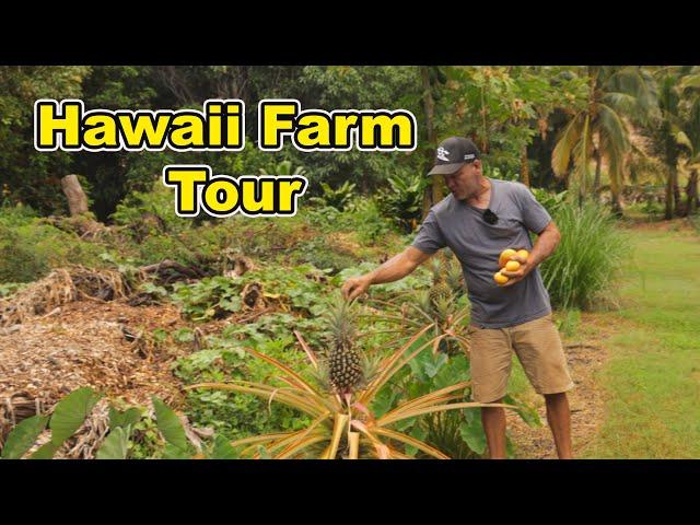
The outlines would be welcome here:
<svg viewBox="0 0 700 525">
<path fill-rule="evenodd" d="M 175 306 L 133 307 L 126 299 L 68 302 L 80 293 L 66 272 L 57 270 L 47 280 L 15 295 L 20 307 L 15 303 L 10 315 L 24 323 L 0 324 L 0 443 L 18 422 L 49 413 L 66 394 L 83 386 L 140 406 L 149 406 L 152 395 L 170 406 L 182 404 L 180 383 L 171 371 L 177 350 L 163 348 L 150 336 L 156 328 L 186 326 Z M 104 290 L 97 278 L 84 282 Z M 46 293 L 38 300 L 42 289 Z M 32 311 L 28 304 L 38 307 Z M 5 301 L 3 313 L 7 306 Z M 107 407 L 106 399 L 100 401 L 62 448 L 62 457 L 91 457 L 107 429 Z"/>
</svg>

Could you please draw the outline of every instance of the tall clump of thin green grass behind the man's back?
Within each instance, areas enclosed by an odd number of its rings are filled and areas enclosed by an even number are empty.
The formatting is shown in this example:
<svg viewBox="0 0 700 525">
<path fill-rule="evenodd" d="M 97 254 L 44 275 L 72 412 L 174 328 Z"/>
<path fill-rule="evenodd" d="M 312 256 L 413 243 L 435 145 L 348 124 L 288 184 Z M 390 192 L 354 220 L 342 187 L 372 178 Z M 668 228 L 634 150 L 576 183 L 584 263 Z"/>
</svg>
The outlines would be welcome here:
<svg viewBox="0 0 700 525">
<path fill-rule="evenodd" d="M 541 265 L 556 308 L 590 308 L 611 298 L 622 266 L 630 260 L 629 240 L 607 208 L 595 201 L 564 205 L 553 213 L 561 242 Z"/>
</svg>

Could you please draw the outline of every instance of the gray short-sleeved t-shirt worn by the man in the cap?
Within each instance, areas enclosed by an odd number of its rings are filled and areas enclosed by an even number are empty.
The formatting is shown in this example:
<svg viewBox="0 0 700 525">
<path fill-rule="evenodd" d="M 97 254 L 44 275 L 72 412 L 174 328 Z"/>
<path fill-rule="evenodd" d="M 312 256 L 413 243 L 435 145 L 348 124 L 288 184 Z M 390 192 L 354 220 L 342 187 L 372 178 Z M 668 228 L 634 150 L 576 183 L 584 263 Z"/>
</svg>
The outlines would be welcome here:
<svg viewBox="0 0 700 525">
<path fill-rule="evenodd" d="M 551 217 L 525 185 L 489 180 L 489 209 L 499 218 L 495 224 L 483 220 L 483 209 L 450 194 L 432 207 L 412 246 L 427 254 L 448 246 L 462 262 L 471 322 L 483 328 L 505 328 L 551 312 L 539 268 L 511 287 L 500 287 L 493 280 L 501 252 L 505 248 L 530 252 L 533 243 L 527 231 L 540 233 Z"/>
</svg>

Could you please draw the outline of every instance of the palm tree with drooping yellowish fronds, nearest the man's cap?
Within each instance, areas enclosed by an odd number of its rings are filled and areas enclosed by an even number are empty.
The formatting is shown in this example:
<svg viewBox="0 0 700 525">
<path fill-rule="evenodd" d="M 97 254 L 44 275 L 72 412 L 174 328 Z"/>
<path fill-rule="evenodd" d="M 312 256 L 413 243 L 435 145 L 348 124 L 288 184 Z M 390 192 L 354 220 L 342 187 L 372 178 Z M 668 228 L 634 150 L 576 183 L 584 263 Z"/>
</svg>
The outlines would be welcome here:
<svg viewBox="0 0 700 525">
<path fill-rule="evenodd" d="M 646 122 L 656 107 L 656 93 L 649 72 L 639 67 L 597 67 L 587 69 L 588 103 L 576 110 L 555 147 L 551 165 L 555 175 L 569 175 L 579 189 L 580 200 L 600 185 L 600 167 L 608 164 L 612 210 L 621 212 L 620 189 L 625 180 L 625 158 L 630 150 L 627 118 Z M 569 165 L 573 160 L 573 170 Z M 590 188 L 590 164 L 595 161 L 595 180 Z"/>
</svg>

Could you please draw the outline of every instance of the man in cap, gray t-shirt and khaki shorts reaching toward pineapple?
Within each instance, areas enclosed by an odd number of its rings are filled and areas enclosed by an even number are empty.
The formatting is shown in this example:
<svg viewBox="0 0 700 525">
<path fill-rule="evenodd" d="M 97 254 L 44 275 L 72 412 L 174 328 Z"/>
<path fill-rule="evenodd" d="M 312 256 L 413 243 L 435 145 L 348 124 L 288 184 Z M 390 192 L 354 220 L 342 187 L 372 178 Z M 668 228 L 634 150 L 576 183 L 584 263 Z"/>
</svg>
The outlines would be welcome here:
<svg viewBox="0 0 700 525">
<path fill-rule="evenodd" d="M 520 183 L 483 176 L 479 151 L 468 139 L 451 137 L 436 151 L 429 175 L 444 177 L 451 195 L 433 206 L 411 246 L 374 271 L 349 279 L 342 293 L 353 300 L 371 284 L 399 280 L 438 249 L 448 246 L 462 262 L 471 302 L 472 398 L 500 402 L 508 390 L 512 351 L 538 394 L 545 396 L 547 421 L 559 458 L 571 458 L 571 422 L 567 390 L 573 383 L 559 332 L 551 317 L 549 294 L 537 266 L 559 244 L 551 217 Z M 538 235 L 533 247 L 528 231 Z M 503 271 L 499 285 L 499 255 L 525 248 L 527 259 L 511 257 L 521 267 Z M 491 458 L 505 458 L 505 411 L 481 409 Z"/>
</svg>

